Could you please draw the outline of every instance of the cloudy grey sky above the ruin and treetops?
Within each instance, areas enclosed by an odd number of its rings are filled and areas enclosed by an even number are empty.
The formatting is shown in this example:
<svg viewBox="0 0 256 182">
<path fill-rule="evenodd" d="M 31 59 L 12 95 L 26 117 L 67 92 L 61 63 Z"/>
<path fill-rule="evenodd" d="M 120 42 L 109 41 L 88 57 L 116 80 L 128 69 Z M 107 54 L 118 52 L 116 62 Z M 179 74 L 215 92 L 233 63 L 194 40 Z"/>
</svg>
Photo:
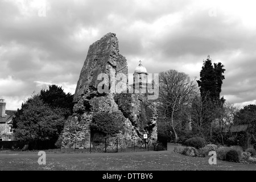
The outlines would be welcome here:
<svg viewBox="0 0 256 182">
<path fill-rule="evenodd" d="M 75 93 L 89 45 L 108 32 L 129 73 L 167 69 L 199 79 L 203 60 L 225 65 L 221 95 L 256 104 L 254 1 L 0 1 L 0 98 L 16 110 L 49 84 Z"/>
</svg>

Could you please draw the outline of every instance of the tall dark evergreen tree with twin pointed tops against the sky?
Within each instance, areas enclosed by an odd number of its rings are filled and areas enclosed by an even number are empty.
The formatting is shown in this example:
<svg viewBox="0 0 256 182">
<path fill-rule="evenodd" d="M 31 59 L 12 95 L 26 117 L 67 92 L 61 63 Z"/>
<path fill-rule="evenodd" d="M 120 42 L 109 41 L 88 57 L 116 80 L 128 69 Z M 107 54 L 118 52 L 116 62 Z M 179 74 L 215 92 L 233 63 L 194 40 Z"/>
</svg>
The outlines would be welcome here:
<svg viewBox="0 0 256 182">
<path fill-rule="evenodd" d="M 225 79 L 223 73 L 225 69 L 221 63 L 214 63 L 212 65 L 212 59 L 208 55 L 206 61 L 204 61 L 203 67 L 200 71 L 200 80 L 197 80 L 197 84 L 200 87 L 201 97 L 205 98 L 209 93 L 210 100 L 215 104 L 224 104 L 225 99 L 220 99 L 222 80 Z"/>
</svg>

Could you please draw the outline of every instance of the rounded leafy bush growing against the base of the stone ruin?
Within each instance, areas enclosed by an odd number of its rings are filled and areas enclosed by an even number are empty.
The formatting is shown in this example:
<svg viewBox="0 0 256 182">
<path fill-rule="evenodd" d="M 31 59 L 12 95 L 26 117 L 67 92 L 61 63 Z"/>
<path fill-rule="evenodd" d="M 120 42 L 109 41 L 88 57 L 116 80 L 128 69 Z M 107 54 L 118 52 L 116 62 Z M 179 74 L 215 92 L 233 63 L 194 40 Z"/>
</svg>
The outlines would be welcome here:
<svg viewBox="0 0 256 182">
<path fill-rule="evenodd" d="M 124 118 L 118 112 L 106 113 L 101 111 L 93 114 L 90 129 L 113 136 L 121 131 L 123 123 Z"/>
</svg>

